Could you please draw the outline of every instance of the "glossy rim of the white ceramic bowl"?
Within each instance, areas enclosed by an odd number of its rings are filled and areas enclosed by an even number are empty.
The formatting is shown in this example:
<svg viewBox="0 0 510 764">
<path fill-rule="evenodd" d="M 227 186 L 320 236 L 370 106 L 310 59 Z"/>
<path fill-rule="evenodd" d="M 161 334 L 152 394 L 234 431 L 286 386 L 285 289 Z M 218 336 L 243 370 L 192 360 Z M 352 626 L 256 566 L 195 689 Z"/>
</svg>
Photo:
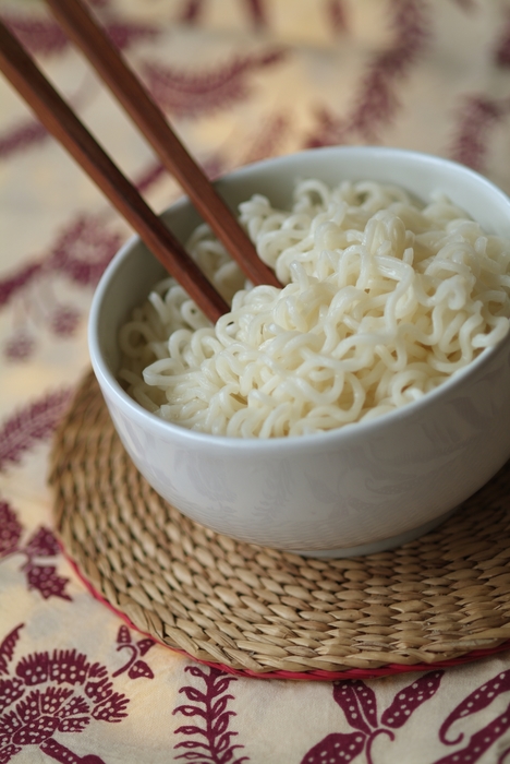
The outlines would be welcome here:
<svg viewBox="0 0 510 764">
<path fill-rule="evenodd" d="M 427 164 L 433 163 L 437 164 L 438 166 L 448 165 L 461 175 L 464 174 L 465 177 L 471 177 L 479 184 L 485 186 L 491 193 L 499 194 L 501 201 L 505 201 L 508 204 L 510 214 L 510 198 L 499 187 L 475 170 L 451 159 L 433 154 L 391 146 L 325 146 L 298 152 L 295 154 L 269 157 L 267 159 L 262 159 L 260 162 L 255 162 L 236 168 L 233 171 L 228 172 L 226 176 L 219 178 L 217 181 L 215 181 L 215 184 L 218 184 L 221 188 L 221 186 L 223 183 L 228 183 L 230 179 L 241 179 L 243 176 L 250 176 L 254 169 L 264 170 L 269 166 L 278 169 L 280 165 L 292 162 L 292 158 L 296 155 L 313 155 L 317 152 L 335 154 L 344 153 L 352 154 L 353 156 L 356 154 L 369 155 L 371 153 L 374 153 L 379 156 L 393 155 L 405 157 L 414 162 L 426 162 Z M 179 212 L 179 208 L 189 206 L 191 202 L 187 196 L 180 196 L 161 213 L 161 216 L 165 217 L 166 215 L 174 214 L 175 212 Z M 109 366 L 100 350 L 98 324 L 102 298 L 117 271 L 121 267 L 130 254 L 139 246 L 139 243 L 141 239 L 137 235 L 131 236 L 113 255 L 96 287 L 90 306 L 87 332 L 92 366 L 101 389 L 104 389 L 104 391 L 105 389 L 108 391 L 107 398 L 114 398 L 116 403 L 122 408 L 123 413 L 130 419 L 136 420 L 141 426 L 148 427 L 155 434 L 162 437 L 165 437 L 165 434 L 167 434 L 167 437 L 171 434 L 173 438 L 180 440 L 183 446 L 189 443 L 190 445 L 193 444 L 194 446 L 206 447 L 212 445 L 216 449 L 222 450 L 241 449 L 243 451 L 264 450 L 271 452 L 281 451 L 282 446 L 284 446 L 286 450 L 288 449 L 290 451 L 301 451 L 303 449 L 316 451 L 324 450 L 325 446 L 331 445 L 332 442 L 340 445 L 343 443 L 343 441 L 351 441 L 354 443 L 361 438 L 366 439 L 371 435 L 376 437 L 380 430 L 386 429 L 388 426 L 399 425 L 403 420 L 414 417 L 420 411 L 423 415 L 424 409 L 434 406 L 438 398 L 447 397 L 449 393 L 454 392 L 459 386 L 461 386 L 466 378 L 469 379 L 470 377 L 477 374 L 481 367 L 488 365 L 490 360 L 502 350 L 505 345 L 510 343 L 509 332 L 496 345 L 484 348 L 474 360 L 459 371 L 454 372 L 438 387 L 429 391 L 416 401 L 412 401 L 399 408 L 387 411 L 374 419 L 350 422 L 326 432 L 315 432 L 295 437 L 279 435 L 264 439 L 217 435 L 209 432 L 191 430 L 182 427 L 181 425 L 163 419 L 151 411 L 148 411 L 141 404 L 134 401 L 134 398 L 132 398 L 125 392 L 125 390 L 116 379 L 114 374 L 110 371 Z"/>
</svg>

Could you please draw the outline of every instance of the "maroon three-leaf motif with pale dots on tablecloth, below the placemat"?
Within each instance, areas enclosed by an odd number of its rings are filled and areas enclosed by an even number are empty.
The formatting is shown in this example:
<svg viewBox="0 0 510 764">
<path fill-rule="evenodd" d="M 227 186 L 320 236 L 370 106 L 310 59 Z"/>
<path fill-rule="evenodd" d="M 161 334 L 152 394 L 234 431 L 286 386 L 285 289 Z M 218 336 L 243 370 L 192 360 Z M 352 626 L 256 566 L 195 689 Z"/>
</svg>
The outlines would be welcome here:
<svg viewBox="0 0 510 764">
<path fill-rule="evenodd" d="M 386 735 L 394 740 L 393 730 L 402 727 L 423 703 L 439 689 L 444 671 L 429 671 L 397 693 L 378 723 L 376 694 L 362 680 L 341 681 L 333 687 L 333 700 L 343 711 L 355 732 L 333 732 L 326 736 L 304 756 L 301 764 L 340 764 L 351 762 L 363 751 L 367 764 L 374 764 L 374 740 Z"/>
</svg>

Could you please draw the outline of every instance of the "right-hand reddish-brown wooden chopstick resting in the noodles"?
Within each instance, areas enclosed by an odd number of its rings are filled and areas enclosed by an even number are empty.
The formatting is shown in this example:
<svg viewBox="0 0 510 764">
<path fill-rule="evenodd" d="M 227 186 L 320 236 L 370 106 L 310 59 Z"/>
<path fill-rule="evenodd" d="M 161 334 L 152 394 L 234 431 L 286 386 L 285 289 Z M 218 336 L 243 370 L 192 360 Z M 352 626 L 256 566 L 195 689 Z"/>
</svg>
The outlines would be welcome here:
<svg viewBox="0 0 510 764">
<path fill-rule="evenodd" d="M 203 218 L 254 284 L 281 287 L 203 170 L 195 164 L 163 114 L 127 67 L 81 0 L 47 0 L 69 37 L 80 47 L 153 145 L 165 167 L 186 191 Z"/>
</svg>

